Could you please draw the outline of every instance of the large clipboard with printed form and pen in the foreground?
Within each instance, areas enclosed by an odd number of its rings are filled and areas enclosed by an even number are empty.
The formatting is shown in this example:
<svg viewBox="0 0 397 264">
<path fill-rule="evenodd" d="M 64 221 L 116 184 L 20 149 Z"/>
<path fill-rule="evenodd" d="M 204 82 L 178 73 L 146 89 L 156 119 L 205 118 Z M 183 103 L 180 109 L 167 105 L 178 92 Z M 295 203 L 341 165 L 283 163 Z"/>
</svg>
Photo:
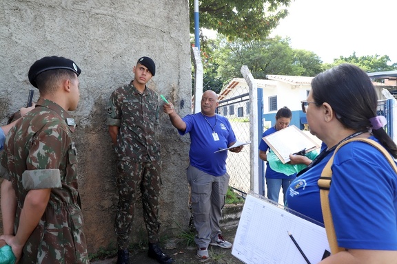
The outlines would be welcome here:
<svg viewBox="0 0 397 264">
<path fill-rule="evenodd" d="M 310 263 L 319 263 L 329 256 L 331 250 L 322 223 L 250 191 L 232 255 L 246 264 L 306 264 L 288 232 L 294 235 Z"/>
</svg>

